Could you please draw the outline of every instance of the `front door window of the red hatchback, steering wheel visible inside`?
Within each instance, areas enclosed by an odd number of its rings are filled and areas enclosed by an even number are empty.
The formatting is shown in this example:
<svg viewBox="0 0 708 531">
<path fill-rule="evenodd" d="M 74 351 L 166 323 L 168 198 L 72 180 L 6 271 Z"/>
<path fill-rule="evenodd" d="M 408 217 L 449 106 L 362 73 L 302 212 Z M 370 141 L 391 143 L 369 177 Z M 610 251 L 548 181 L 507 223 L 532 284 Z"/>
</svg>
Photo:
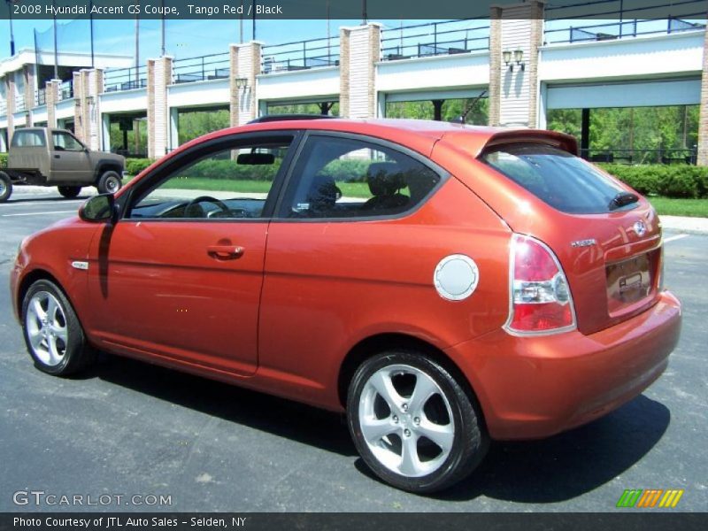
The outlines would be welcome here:
<svg viewBox="0 0 708 531">
<path fill-rule="evenodd" d="M 138 196 L 127 218 L 261 218 L 290 141 L 241 145 L 192 160 Z"/>
</svg>

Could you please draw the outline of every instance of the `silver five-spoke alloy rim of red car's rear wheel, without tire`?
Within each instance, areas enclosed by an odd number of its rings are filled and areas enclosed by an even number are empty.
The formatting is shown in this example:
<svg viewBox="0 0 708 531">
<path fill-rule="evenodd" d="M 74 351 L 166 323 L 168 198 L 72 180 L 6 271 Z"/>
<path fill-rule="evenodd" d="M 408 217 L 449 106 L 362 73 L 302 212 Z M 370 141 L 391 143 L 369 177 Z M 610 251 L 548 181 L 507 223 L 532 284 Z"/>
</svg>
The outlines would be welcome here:
<svg viewBox="0 0 708 531">
<path fill-rule="evenodd" d="M 412 389 L 411 377 L 415 378 Z M 405 378 L 409 383 L 402 394 L 396 380 Z M 427 373 L 408 365 L 383 367 L 366 381 L 359 401 L 359 425 L 381 465 L 412 478 L 440 468 L 455 438 L 452 410 L 443 389 Z"/>
</svg>

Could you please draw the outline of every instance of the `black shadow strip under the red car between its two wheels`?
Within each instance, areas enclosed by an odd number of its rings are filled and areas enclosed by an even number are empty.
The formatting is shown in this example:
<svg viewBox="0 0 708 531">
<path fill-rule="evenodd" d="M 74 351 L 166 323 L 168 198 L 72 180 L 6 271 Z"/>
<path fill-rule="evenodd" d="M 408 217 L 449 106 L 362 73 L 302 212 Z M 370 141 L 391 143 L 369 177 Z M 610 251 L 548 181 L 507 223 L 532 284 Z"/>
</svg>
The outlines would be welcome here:
<svg viewBox="0 0 708 531">
<path fill-rule="evenodd" d="M 76 379 L 100 378 L 145 395 L 322 450 L 356 456 L 343 416 L 129 358 L 101 354 Z"/>
</svg>

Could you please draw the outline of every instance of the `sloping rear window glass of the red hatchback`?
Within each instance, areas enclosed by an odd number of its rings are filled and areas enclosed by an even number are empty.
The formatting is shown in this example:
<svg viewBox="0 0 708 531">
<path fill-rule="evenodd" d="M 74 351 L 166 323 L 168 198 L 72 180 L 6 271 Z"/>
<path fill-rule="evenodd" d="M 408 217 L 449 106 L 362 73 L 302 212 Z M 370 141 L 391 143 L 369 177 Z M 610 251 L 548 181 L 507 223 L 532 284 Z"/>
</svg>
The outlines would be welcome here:
<svg viewBox="0 0 708 531">
<path fill-rule="evenodd" d="M 638 199 L 595 166 L 548 144 L 505 144 L 481 160 L 560 212 L 631 210 Z"/>
</svg>

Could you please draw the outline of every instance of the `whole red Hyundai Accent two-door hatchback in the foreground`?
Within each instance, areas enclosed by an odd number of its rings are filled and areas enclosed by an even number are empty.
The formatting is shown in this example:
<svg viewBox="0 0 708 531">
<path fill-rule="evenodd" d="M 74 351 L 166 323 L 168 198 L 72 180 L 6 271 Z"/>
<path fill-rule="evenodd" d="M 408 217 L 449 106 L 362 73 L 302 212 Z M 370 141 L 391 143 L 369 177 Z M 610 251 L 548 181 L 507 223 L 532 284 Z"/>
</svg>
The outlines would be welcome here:
<svg viewBox="0 0 708 531">
<path fill-rule="evenodd" d="M 105 350 L 346 412 L 374 473 L 443 489 L 489 439 L 637 396 L 678 341 L 656 212 L 576 150 L 414 120 L 204 136 L 22 242 L 27 349 L 52 374 Z"/>
</svg>

